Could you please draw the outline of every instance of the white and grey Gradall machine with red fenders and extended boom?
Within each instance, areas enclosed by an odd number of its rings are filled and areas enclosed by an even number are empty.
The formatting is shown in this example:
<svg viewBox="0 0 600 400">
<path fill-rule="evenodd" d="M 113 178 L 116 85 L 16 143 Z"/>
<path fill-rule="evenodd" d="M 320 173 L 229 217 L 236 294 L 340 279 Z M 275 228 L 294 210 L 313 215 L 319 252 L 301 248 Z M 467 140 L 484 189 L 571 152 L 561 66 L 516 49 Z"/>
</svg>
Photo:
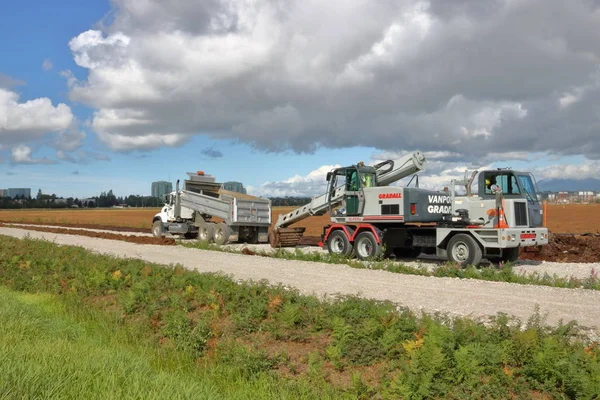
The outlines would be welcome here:
<svg viewBox="0 0 600 400">
<path fill-rule="evenodd" d="M 327 174 L 327 192 L 309 204 L 279 216 L 271 246 L 295 246 L 304 228 L 289 228 L 312 215 L 328 212 L 322 245 L 330 253 L 372 259 L 394 254 L 435 254 L 461 264 L 515 261 L 523 247 L 548 244 L 542 209 L 530 173 L 497 169 L 474 171 L 453 180 L 444 191 L 389 186 L 425 166 L 415 152 L 374 166 L 363 163 Z M 477 193 L 472 184 L 479 174 Z M 463 186 L 466 194 L 457 195 Z"/>
</svg>

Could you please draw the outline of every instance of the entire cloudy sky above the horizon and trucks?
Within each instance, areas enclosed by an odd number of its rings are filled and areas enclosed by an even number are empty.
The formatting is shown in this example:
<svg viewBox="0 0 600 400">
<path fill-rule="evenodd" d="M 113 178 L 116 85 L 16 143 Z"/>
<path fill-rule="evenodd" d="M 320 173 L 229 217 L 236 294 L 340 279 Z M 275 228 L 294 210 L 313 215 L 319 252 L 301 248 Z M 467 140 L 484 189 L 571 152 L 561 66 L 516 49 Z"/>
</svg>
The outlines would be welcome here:
<svg viewBox="0 0 600 400">
<path fill-rule="evenodd" d="M 64 197 L 202 170 L 316 195 L 421 151 L 421 186 L 599 177 L 599 0 L 2 2 L 0 188 Z"/>
</svg>

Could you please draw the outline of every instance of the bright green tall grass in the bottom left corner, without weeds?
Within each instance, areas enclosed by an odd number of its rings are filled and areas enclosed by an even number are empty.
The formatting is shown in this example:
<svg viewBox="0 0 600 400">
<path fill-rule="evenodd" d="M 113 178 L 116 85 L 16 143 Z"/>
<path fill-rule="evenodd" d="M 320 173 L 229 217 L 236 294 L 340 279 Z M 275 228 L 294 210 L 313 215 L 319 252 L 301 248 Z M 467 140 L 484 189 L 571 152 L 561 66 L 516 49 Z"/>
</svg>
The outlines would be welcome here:
<svg viewBox="0 0 600 400">
<path fill-rule="evenodd" d="M 140 342 L 116 319 L 53 295 L 0 287 L 0 320 L 0 399 L 335 397 L 224 363 L 200 369 L 189 354 Z"/>
</svg>

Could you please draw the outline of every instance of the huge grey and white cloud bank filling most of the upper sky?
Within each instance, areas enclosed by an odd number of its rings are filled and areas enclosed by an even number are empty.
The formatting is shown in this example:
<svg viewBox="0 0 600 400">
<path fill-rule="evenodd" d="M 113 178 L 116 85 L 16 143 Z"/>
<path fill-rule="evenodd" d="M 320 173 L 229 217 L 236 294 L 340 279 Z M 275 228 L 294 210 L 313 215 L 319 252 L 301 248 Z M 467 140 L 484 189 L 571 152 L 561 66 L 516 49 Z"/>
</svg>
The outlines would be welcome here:
<svg viewBox="0 0 600 400">
<path fill-rule="evenodd" d="M 600 158 L 596 2 L 114 0 L 70 43 L 70 97 L 114 150 L 196 134 Z M 113 18 L 114 17 L 114 18 Z"/>
</svg>

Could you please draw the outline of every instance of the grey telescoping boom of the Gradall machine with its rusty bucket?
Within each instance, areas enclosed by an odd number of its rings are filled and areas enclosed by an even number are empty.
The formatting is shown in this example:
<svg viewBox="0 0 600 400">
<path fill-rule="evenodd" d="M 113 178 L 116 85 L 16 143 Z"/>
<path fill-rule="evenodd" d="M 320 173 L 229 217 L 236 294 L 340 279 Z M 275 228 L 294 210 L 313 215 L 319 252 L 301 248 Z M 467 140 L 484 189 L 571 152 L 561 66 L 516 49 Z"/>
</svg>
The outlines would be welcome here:
<svg viewBox="0 0 600 400">
<path fill-rule="evenodd" d="M 402 178 L 421 171 L 425 167 L 425 164 L 425 155 L 420 151 L 416 151 L 396 160 L 386 160 L 375 164 L 374 167 L 377 170 L 377 186 L 389 186 Z M 304 228 L 287 227 L 310 216 L 323 215 L 329 210 L 330 203 L 331 207 L 337 207 L 344 199 L 344 194 L 345 187 L 344 185 L 340 185 L 331 190 L 330 199 L 328 199 L 329 193 L 324 193 L 314 197 L 308 204 L 298 207 L 289 213 L 280 214 L 273 227 L 273 232 L 271 232 L 271 246 L 295 246 L 302 238 Z M 283 237 L 289 240 L 282 241 L 281 238 Z"/>
</svg>

